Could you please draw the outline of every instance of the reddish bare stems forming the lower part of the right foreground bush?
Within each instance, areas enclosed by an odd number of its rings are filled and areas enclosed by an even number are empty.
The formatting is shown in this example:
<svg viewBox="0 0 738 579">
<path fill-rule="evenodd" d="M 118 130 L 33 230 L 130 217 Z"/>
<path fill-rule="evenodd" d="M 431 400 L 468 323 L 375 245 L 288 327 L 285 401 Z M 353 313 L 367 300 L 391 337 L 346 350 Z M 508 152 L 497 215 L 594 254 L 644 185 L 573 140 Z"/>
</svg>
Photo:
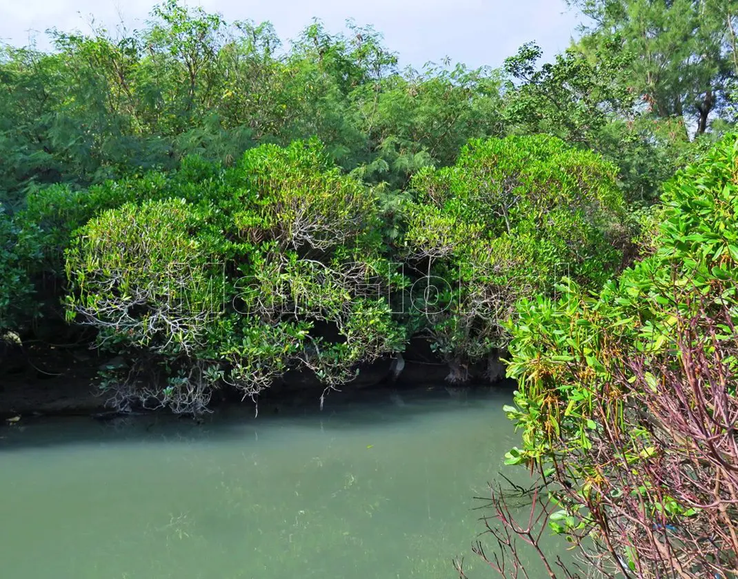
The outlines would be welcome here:
<svg viewBox="0 0 738 579">
<path fill-rule="evenodd" d="M 615 361 L 600 381 L 591 447 L 559 452 L 535 470 L 530 516 L 515 520 L 500 488 L 483 519 L 499 552 L 474 550 L 506 578 L 531 578 L 516 540 L 550 578 L 738 577 L 738 342 L 734 312 L 701 303 L 677 314 L 672 347 Z M 548 493 L 548 496 L 545 496 Z M 579 563 L 545 552 L 547 527 Z M 457 564 L 461 578 L 466 575 Z"/>
</svg>

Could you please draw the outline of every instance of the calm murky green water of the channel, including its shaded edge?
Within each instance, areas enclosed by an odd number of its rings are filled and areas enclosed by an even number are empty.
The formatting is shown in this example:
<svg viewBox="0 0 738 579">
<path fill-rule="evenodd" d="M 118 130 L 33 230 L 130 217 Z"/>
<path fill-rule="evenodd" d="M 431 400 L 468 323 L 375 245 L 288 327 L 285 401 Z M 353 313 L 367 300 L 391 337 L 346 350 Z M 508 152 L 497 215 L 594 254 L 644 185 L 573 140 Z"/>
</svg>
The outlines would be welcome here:
<svg viewBox="0 0 738 579">
<path fill-rule="evenodd" d="M 516 443 L 509 395 L 334 398 L 201 425 L 1 426 L 0 576 L 455 578 L 464 555 L 493 577 L 470 552 L 473 497 Z"/>
</svg>

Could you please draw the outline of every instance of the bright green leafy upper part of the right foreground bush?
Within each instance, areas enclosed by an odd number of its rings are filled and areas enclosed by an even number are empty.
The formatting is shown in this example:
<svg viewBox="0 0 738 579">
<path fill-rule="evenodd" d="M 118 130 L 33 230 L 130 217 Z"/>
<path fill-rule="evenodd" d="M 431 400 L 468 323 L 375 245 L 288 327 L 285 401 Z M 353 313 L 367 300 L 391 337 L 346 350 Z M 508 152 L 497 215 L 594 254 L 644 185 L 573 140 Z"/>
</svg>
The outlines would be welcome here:
<svg viewBox="0 0 738 579">
<path fill-rule="evenodd" d="M 517 409 L 509 415 L 523 430 L 516 462 L 588 448 L 601 384 L 636 353 L 677 351 L 677 317 L 692 318 L 705 301 L 735 316 L 737 175 L 738 136 L 728 135 L 664 188 L 647 257 L 596 294 L 568 281 L 558 299 L 517 305 L 508 366 L 519 383 Z M 734 339 L 727 327 L 723 337 Z M 617 423 L 622 399 L 612 401 L 612 412 Z"/>
</svg>

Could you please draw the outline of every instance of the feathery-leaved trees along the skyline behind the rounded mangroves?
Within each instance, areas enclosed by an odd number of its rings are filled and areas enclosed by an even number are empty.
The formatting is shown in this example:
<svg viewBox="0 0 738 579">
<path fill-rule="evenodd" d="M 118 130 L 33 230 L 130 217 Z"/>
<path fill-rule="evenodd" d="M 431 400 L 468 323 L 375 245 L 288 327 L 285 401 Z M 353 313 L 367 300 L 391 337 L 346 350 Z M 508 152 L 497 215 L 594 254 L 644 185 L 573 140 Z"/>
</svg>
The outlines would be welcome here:
<svg viewBox="0 0 738 579">
<path fill-rule="evenodd" d="M 270 24 L 228 23 L 175 0 L 114 38 L 52 32 L 56 52 L 0 56 L 0 195 L 86 187 L 173 169 L 196 153 L 230 164 L 262 142 L 317 136 L 346 170 L 400 187 L 448 164 L 469 138 L 499 134 L 499 80 L 486 69 L 399 72 L 371 27 L 316 22 L 277 52 Z"/>
</svg>

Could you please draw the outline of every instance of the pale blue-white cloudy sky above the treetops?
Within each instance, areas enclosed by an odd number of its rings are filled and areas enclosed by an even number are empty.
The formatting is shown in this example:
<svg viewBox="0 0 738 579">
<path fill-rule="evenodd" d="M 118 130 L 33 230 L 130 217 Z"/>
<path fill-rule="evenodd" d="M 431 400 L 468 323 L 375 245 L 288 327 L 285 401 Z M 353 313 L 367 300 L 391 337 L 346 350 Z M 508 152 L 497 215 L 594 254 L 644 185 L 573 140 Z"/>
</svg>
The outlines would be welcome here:
<svg viewBox="0 0 738 579">
<path fill-rule="evenodd" d="M 91 17 L 114 29 L 123 19 L 129 30 L 145 24 L 156 0 L 0 0 L 0 41 L 23 46 L 35 35 L 49 47 L 44 30 L 56 27 L 89 32 Z M 329 31 L 343 30 L 347 18 L 373 24 L 402 66 L 428 61 L 477 67 L 501 66 L 517 47 L 536 41 L 545 60 L 562 52 L 576 36 L 579 15 L 564 0 L 187 0 L 227 21 L 271 21 L 285 41 L 296 38 L 311 18 Z"/>
</svg>

